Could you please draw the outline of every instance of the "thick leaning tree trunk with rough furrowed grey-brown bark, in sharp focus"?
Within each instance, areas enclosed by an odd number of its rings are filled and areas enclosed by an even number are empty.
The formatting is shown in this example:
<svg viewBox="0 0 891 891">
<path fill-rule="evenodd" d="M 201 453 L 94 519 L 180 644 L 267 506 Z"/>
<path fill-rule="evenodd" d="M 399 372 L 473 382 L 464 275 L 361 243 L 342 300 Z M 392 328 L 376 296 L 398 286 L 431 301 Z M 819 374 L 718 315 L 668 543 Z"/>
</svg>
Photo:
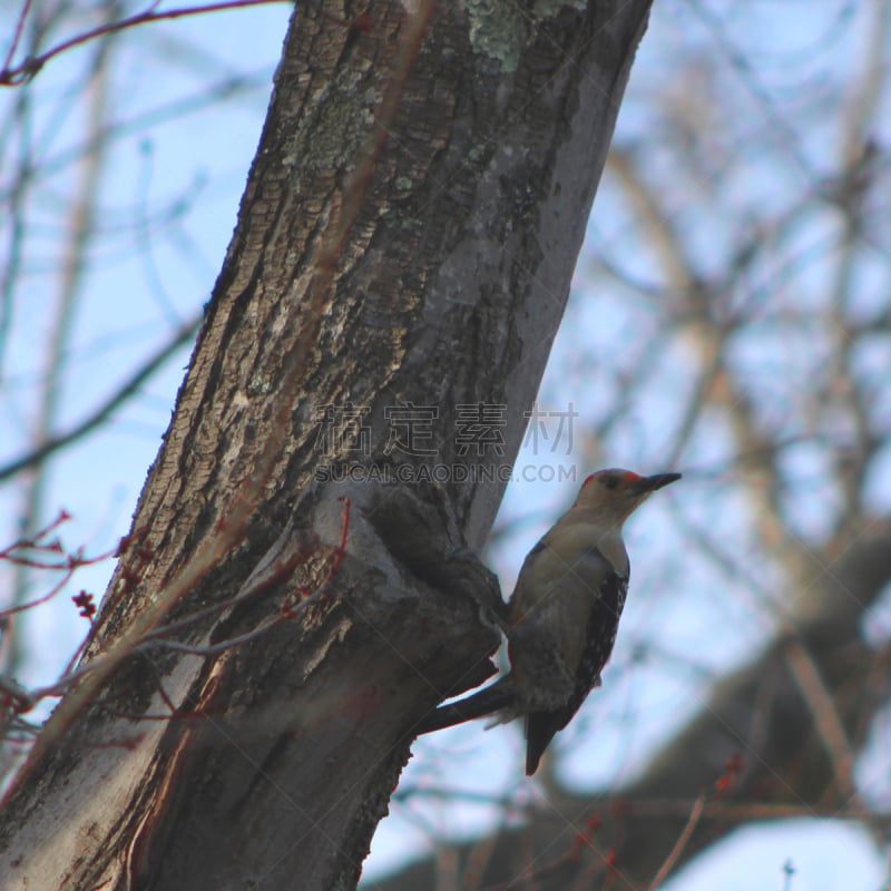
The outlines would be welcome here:
<svg viewBox="0 0 891 891">
<path fill-rule="evenodd" d="M 505 476 L 425 480 L 516 456 L 648 6 L 297 7 L 86 665 L 0 815 L 4 891 L 355 883 L 412 726 L 497 643 Z M 505 448 L 471 466 L 474 404 Z M 433 454 L 392 448 L 412 405 Z M 320 448 L 325 407 L 366 410 L 368 453 Z"/>
</svg>

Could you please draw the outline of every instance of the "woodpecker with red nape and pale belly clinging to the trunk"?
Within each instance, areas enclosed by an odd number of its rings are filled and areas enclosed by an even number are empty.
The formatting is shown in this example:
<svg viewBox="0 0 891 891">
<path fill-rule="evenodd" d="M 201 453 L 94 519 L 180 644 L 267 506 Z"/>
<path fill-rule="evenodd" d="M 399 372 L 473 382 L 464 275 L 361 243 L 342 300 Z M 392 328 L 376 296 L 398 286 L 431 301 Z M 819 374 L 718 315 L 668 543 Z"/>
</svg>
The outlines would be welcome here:
<svg viewBox="0 0 891 891">
<path fill-rule="evenodd" d="M 628 589 L 621 527 L 656 489 L 679 473 L 640 477 L 598 470 L 572 507 L 529 551 L 507 611 L 510 674 L 442 706 L 420 731 L 501 712 L 526 718 L 526 773 L 536 772 L 554 735 L 572 718 L 613 652 Z"/>
</svg>

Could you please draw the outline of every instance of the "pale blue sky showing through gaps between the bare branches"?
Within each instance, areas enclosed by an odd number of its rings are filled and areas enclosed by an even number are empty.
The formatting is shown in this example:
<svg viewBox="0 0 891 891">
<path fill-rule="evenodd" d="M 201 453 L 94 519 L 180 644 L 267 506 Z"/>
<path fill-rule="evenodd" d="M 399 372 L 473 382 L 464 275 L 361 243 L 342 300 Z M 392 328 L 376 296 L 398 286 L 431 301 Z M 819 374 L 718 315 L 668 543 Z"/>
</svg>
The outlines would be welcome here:
<svg viewBox="0 0 891 891">
<path fill-rule="evenodd" d="M 726 263 L 745 221 L 764 214 L 765 208 L 776 214 L 791 210 L 809 189 L 821 184 L 821 177 L 832 174 L 838 155 L 833 97 L 838 81 L 865 58 L 873 27 L 868 7 L 826 3 L 817 12 L 812 3 L 779 0 L 735 4 L 732 10 L 717 10 L 707 2 L 656 4 L 638 52 L 616 145 L 643 141 L 653 147 L 649 169 L 653 176 L 665 177 L 666 199 L 684 221 L 702 268 L 719 270 Z M 101 108 L 115 138 L 101 173 L 97 207 L 101 237 L 88 251 L 88 271 L 66 345 L 57 429 L 66 429 L 91 411 L 116 380 L 157 349 L 176 325 L 195 317 L 209 297 L 265 116 L 287 13 L 286 6 L 268 6 L 182 19 L 124 35 L 111 48 L 115 77 L 102 88 L 104 97 L 80 86 L 90 47 L 49 63 L 29 88 L 35 110 L 28 131 L 12 128 L 0 139 L 4 200 L 22 140 L 30 143 L 27 154 L 38 169 L 26 214 L 21 272 L 9 304 L 14 311 L 11 336 L 0 365 L 0 464 L 18 456 L 27 443 L 63 261 L 60 236 L 69 225 L 68 204 L 82 174 L 81 167 L 66 159 L 77 157 L 89 115 Z M 0 33 L 9 32 L 11 21 L 8 10 L 0 13 Z M 59 37 L 78 27 L 82 25 L 68 22 Z M 701 53 L 709 65 L 717 57 L 722 77 L 714 82 L 699 81 L 689 74 L 694 66 L 687 70 L 687 79 L 681 79 L 672 74 L 679 53 L 686 59 Z M 704 62 L 703 70 L 713 69 Z M 727 194 L 735 197 L 737 209 L 732 219 L 719 207 L 713 215 L 704 212 L 691 196 L 691 180 L 672 176 L 676 161 L 662 145 L 662 121 L 653 117 L 654 97 L 683 105 L 685 91 L 693 96 L 697 90 L 721 90 L 726 106 L 726 117 L 714 120 L 714 145 L 701 177 L 703 188 L 706 180 L 721 178 Z M 12 90 L 0 95 L 4 116 L 16 101 Z M 891 111 L 887 96 L 882 101 L 885 111 Z M 885 131 L 875 134 L 880 141 L 890 136 L 887 121 L 891 115 L 883 119 Z M 731 150 L 746 140 L 751 140 L 751 154 Z M 579 458 L 582 448 L 591 444 L 586 442 L 586 431 L 603 429 L 601 421 L 624 385 L 621 356 L 615 361 L 598 356 L 607 355 L 629 331 L 649 332 L 654 337 L 659 333 L 659 319 L 652 310 L 629 300 L 619 285 L 610 285 L 598 268 L 598 256 L 609 252 L 640 277 L 655 275 L 654 258 L 635 241 L 619 192 L 607 174 L 577 271 L 567 324 L 555 344 L 541 389 L 544 405 L 561 411 L 571 402 L 581 413 L 575 431 L 576 451 L 554 456 L 527 449 L 519 459 L 520 466 L 560 463 L 577 469 L 579 482 L 590 469 L 580 464 L 593 460 Z M 794 234 L 799 249 L 806 252 L 820 244 L 823 226 L 831 231 L 832 225 L 829 216 L 822 223 L 803 223 Z M 13 248 L 8 216 L 6 221 L 0 216 L 0 262 L 8 264 Z M 877 258 L 862 265 L 864 285 L 858 294 L 866 314 L 881 307 L 885 298 L 887 252 L 887 243 L 879 245 Z M 772 268 L 765 265 L 760 273 L 767 281 Z M 819 284 L 825 274 L 826 266 L 814 263 L 795 288 L 770 288 L 765 301 L 786 301 L 790 312 L 796 301 L 810 305 L 807 284 Z M 757 292 L 758 282 L 751 287 Z M 728 305 L 737 297 L 728 295 Z M 814 373 L 820 364 L 819 339 L 796 345 L 789 340 L 773 343 L 771 336 L 765 329 L 763 336 L 750 337 L 738 346 L 742 368 L 753 369 L 753 388 L 775 388 L 777 378 L 792 373 L 789 369 L 802 380 Z M 777 360 L 774 368 L 771 362 L 777 355 L 783 361 Z M 879 375 L 888 368 L 887 359 L 882 349 L 877 349 L 874 355 L 860 361 L 871 362 Z M 52 517 L 60 507 L 71 512 L 74 519 L 63 529 L 71 547 L 101 552 L 127 531 L 187 360 L 188 350 L 184 349 L 99 434 L 51 462 L 45 516 Z M 647 472 L 669 469 L 660 461 L 672 448 L 669 431 L 676 418 L 665 392 L 691 388 L 689 354 L 683 339 L 666 342 L 664 355 L 653 361 L 652 378 L 662 389 L 655 384 L 642 388 L 621 421 L 595 443 L 594 451 L 604 463 Z M 764 368 L 773 370 L 761 381 L 755 370 Z M 782 404 L 779 395 L 776 404 Z M 792 415 L 790 409 L 790 423 Z M 603 707 L 580 716 L 579 730 L 569 737 L 574 751 L 561 762 L 561 775 L 579 787 L 595 789 L 633 775 L 653 746 L 695 709 L 707 679 L 743 660 L 770 631 L 768 619 L 753 608 L 752 598 L 726 579 L 721 580 L 724 596 L 703 606 L 707 600 L 704 590 L 715 585 L 713 569 L 684 567 L 679 576 L 675 565 L 663 564 L 673 547 L 668 531 L 674 525 L 673 510 L 708 525 L 722 540 L 745 544 L 738 518 L 746 507 L 740 503 L 732 480 L 719 480 L 723 488 L 716 488 L 705 472 L 724 460 L 727 448 L 722 419 L 706 420 L 682 456 L 687 463 L 681 469 L 687 471 L 689 466 L 693 470 L 684 490 L 678 489 L 665 503 L 654 500 L 629 528 L 633 557 L 647 558 L 635 561 L 633 599 L 614 665 L 604 691 L 597 694 Z M 802 450 L 791 469 L 816 476 L 823 461 L 820 453 Z M 888 479 L 891 474 L 877 471 L 871 496 L 877 509 L 891 501 Z M 571 481 L 559 486 L 527 481 L 509 488 L 499 523 L 510 526 L 512 532 L 490 552 L 506 593 L 523 554 L 566 507 L 575 486 Z M 832 492 L 819 484 L 802 487 L 802 491 L 804 500 L 799 503 L 806 509 L 793 521 L 802 536 L 819 536 L 822 530 L 814 518 L 825 515 Z M 712 507 L 718 495 L 731 509 L 715 516 Z M 672 507 L 675 498 L 679 508 Z M 3 541 L 14 538 L 12 519 L 19 503 L 14 487 L 0 488 Z M 665 574 L 664 565 L 674 568 Z M 110 571 L 110 561 L 84 568 L 71 593 L 87 588 L 98 596 Z M 770 582 L 770 572 L 765 576 Z M 8 572 L 0 571 L 0 591 L 8 584 Z M 47 581 L 33 578 L 32 584 L 39 594 Z M 717 625 L 731 627 L 733 634 L 716 642 L 709 629 Z M 28 684 L 52 679 L 84 631 L 84 619 L 67 595 L 60 596 L 53 608 L 29 614 L 22 625 L 29 655 L 21 679 Z M 664 662 L 635 664 L 635 646 L 657 637 L 670 640 Z M 439 734 L 415 746 L 418 756 L 407 770 L 404 785 L 418 790 L 457 786 L 474 796 L 536 799 L 540 791 L 520 779 L 521 745 L 520 734 L 512 727 L 483 733 L 476 724 Z M 874 747 L 870 765 L 864 768 L 869 784 L 887 794 L 888 763 L 881 744 Z M 887 799 L 883 801 L 887 804 Z M 421 795 L 398 799 L 375 839 L 366 874 L 380 874 L 407 854 L 428 849 L 431 838 L 462 838 L 482 831 L 498 814 L 493 805 L 461 801 L 460 795 L 451 801 Z M 783 872 L 787 862 L 794 865 L 794 875 Z M 885 866 L 865 831 L 801 820 L 734 833 L 669 887 L 673 891 L 842 887 L 873 891 L 887 887 L 883 881 L 888 882 Z"/>
</svg>

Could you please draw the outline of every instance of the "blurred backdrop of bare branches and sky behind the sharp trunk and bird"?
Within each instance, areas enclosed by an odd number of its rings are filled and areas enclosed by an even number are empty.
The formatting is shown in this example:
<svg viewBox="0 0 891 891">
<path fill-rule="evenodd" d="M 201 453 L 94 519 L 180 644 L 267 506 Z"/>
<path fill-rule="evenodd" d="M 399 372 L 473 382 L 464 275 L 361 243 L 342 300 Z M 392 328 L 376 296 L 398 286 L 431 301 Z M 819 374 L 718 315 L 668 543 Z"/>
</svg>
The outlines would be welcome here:
<svg viewBox="0 0 891 891">
<path fill-rule="evenodd" d="M 26 37 L 128 11 L 36 3 Z M 88 554 L 126 530 L 287 12 L 104 38 L 0 97 L 4 541 L 61 506 Z M 539 400 L 548 438 L 489 561 L 509 591 L 589 468 L 685 480 L 635 518 L 604 687 L 540 776 L 520 779 L 516 727 L 418 743 L 370 885 L 640 889 L 730 833 L 670 887 L 732 888 L 722 863 L 741 888 L 888 885 L 890 16 L 654 9 Z M 3 604 L 53 584 L 0 571 Z M 3 674 L 58 674 L 84 631 L 68 596 L 109 572 L 8 624 Z"/>
</svg>

